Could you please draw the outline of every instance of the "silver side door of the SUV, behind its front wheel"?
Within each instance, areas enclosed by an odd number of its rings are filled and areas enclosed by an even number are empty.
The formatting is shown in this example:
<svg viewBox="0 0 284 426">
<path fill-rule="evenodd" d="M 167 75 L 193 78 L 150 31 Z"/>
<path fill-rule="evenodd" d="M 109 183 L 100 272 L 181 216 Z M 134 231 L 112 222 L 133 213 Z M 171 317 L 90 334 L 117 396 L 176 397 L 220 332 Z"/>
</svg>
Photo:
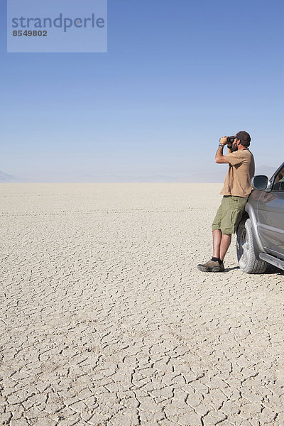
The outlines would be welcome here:
<svg viewBox="0 0 284 426">
<path fill-rule="evenodd" d="M 275 174 L 271 192 L 258 199 L 258 234 L 267 253 L 284 258 L 284 165 Z"/>
</svg>

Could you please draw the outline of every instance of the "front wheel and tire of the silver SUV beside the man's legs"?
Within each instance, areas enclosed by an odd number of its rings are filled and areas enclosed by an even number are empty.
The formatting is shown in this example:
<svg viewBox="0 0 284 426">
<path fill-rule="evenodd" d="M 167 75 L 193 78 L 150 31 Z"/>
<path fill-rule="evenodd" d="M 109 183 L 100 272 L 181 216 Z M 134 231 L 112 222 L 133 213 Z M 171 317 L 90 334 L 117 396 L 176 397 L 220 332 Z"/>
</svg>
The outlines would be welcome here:
<svg viewBox="0 0 284 426">
<path fill-rule="evenodd" d="M 267 263 L 258 261 L 253 248 L 251 219 L 242 219 L 236 233 L 236 254 L 239 267 L 246 273 L 263 273 Z"/>
</svg>

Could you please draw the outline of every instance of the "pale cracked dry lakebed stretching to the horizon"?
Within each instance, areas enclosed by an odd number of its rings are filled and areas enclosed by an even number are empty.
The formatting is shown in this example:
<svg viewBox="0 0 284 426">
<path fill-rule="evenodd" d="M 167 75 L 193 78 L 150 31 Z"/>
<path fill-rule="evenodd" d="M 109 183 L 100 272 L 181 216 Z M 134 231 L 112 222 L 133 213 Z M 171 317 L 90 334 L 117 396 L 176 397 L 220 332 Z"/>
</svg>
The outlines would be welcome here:
<svg viewBox="0 0 284 426">
<path fill-rule="evenodd" d="M 284 425 L 283 273 L 211 251 L 222 185 L 1 185 L 1 425 Z"/>
</svg>

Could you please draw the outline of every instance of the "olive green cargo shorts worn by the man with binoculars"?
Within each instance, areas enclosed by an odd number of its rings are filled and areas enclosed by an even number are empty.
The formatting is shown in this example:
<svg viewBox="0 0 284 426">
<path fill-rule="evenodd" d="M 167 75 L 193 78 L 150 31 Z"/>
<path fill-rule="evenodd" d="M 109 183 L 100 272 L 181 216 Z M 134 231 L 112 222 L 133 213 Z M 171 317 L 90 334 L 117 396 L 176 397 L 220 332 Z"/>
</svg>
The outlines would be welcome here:
<svg viewBox="0 0 284 426">
<path fill-rule="evenodd" d="M 220 229 L 222 234 L 234 234 L 243 217 L 248 197 L 224 195 L 222 203 L 212 223 L 212 231 Z"/>
</svg>

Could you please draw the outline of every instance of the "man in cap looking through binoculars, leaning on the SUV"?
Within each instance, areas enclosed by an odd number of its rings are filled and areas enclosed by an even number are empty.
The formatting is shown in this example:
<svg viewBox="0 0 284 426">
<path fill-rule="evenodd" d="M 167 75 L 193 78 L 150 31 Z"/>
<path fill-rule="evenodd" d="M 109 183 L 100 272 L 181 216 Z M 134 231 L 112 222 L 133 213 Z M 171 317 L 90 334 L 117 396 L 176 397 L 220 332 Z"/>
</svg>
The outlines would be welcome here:
<svg viewBox="0 0 284 426">
<path fill-rule="evenodd" d="M 251 178 L 254 175 L 254 159 L 249 151 L 251 136 L 246 131 L 236 133 L 227 155 L 223 155 L 227 141 L 226 137 L 220 139 L 215 156 L 215 162 L 228 163 L 229 170 L 220 192 L 223 195 L 222 203 L 212 224 L 213 256 L 207 263 L 197 265 L 202 272 L 224 271 L 223 261 L 231 244 L 231 234 L 236 232 L 251 193 Z"/>
</svg>

